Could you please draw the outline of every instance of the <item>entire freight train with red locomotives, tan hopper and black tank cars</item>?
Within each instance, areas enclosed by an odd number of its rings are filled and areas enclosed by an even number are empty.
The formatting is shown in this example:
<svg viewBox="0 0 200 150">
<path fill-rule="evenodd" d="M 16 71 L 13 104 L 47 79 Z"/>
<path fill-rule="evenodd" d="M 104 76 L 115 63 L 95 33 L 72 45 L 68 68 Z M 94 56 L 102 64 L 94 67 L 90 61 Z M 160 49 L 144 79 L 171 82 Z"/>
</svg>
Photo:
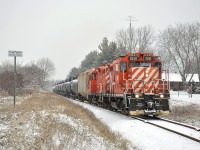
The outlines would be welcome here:
<svg viewBox="0 0 200 150">
<path fill-rule="evenodd" d="M 169 114 L 169 89 L 169 72 L 162 70 L 160 58 L 138 52 L 87 70 L 53 90 L 123 114 L 158 116 Z"/>
</svg>

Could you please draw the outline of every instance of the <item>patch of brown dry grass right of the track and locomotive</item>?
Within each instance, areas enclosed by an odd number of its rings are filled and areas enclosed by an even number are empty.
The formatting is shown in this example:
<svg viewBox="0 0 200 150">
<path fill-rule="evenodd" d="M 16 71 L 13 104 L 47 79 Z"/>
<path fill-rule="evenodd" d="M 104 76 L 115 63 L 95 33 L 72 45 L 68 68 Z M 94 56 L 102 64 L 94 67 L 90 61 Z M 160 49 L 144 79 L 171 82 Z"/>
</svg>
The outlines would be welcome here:
<svg viewBox="0 0 200 150">
<path fill-rule="evenodd" d="M 200 127 L 200 108 L 195 104 L 174 106 L 167 118 Z"/>
</svg>

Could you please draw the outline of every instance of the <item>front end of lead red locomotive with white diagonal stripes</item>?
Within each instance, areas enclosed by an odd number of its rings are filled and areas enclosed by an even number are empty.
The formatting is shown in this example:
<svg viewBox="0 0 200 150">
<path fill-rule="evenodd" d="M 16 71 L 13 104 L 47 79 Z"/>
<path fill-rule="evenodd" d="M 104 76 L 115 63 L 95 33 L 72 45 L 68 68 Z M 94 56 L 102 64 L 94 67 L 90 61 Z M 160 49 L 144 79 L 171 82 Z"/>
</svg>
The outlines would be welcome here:
<svg viewBox="0 0 200 150">
<path fill-rule="evenodd" d="M 127 68 L 121 62 L 123 76 L 128 72 L 127 79 L 124 78 L 124 103 L 130 115 L 169 114 L 168 72 L 162 79 L 161 67 L 161 61 L 151 53 L 130 54 Z"/>
</svg>

